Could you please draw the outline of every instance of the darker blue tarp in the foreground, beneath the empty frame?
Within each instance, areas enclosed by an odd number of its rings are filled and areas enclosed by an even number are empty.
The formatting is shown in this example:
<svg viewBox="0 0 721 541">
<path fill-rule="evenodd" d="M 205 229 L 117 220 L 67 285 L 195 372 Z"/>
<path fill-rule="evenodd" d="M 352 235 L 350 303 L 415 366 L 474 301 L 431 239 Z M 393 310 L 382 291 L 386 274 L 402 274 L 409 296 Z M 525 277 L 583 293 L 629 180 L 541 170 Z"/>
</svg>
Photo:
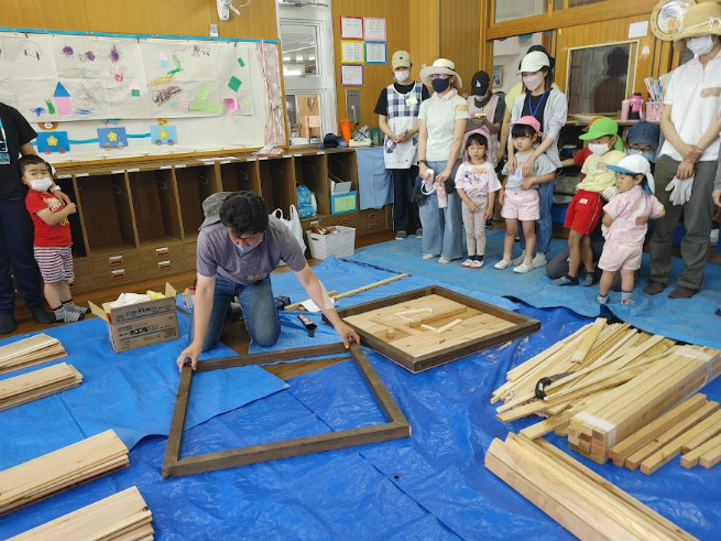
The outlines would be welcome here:
<svg viewBox="0 0 721 541">
<path fill-rule="evenodd" d="M 352 277 L 352 286 L 387 275 L 338 260 L 316 270 L 325 283 L 339 273 Z M 274 275 L 275 293 L 291 291 L 292 280 L 292 274 Z M 395 284 L 400 288 L 403 282 L 405 279 Z M 466 294 L 493 300 L 473 291 Z M 162 479 L 166 439 L 150 436 L 130 452 L 129 468 L 3 517 L 0 538 L 136 485 L 153 511 L 159 539 L 570 539 L 488 472 L 483 456 L 493 437 L 504 437 L 509 430 L 518 431 L 534 421 L 504 424 L 495 419 L 490 394 L 503 382 L 505 372 L 590 320 L 566 309 L 515 307 L 538 318 L 540 331 L 426 372 L 412 375 L 364 349 L 406 414 L 413 430 L 409 439 Z M 284 317 L 284 333 L 287 327 Z M 351 361 L 288 382 L 285 392 L 187 430 L 183 455 L 384 421 Z M 710 383 L 704 392 L 710 399 L 721 399 L 721 381 Z M 194 393 L 192 404 L 206 398 L 207 393 Z M 22 408 L 10 411 L 20 415 Z M 42 437 L 28 431 L 24 442 L 35 445 Z M 568 450 L 565 441 L 550 440 Z M 687 470 L 676 458 L 647 477 L 571 455 L 690 533 L 709 540 L 717 537 L 721 469 Z"/>
</svg>

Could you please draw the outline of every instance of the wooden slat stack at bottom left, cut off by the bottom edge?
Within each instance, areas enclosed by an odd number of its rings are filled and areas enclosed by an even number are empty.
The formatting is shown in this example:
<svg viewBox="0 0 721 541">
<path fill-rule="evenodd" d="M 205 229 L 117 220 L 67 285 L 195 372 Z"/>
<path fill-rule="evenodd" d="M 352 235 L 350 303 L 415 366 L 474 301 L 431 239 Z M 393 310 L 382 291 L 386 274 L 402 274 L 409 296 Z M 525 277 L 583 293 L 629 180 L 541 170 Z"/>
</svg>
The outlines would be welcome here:
<svg viewBox="0 0 721 541">
<path fill-rule="evenodd" d="M 136 487 L 90 504 L 55 520 L 28 530 L 8 541 L 55 541 L 57 539 L 141 540 L 153 539 L 153 515 Z"/>
</svg>

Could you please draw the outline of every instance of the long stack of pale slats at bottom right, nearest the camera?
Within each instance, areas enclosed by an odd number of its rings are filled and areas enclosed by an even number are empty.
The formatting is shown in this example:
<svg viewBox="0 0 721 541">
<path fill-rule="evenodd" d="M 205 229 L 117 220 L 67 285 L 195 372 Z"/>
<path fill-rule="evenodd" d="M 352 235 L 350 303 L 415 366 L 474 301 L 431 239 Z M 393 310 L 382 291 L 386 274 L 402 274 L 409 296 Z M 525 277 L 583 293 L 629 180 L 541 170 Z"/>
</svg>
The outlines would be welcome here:
<svg viewBox="0 0 721 541">
<path fill-rule="evenodd" d="M 485 467 L 580 539 L 693 539 L 544 440 L 494 440 Z"/>
</svg>

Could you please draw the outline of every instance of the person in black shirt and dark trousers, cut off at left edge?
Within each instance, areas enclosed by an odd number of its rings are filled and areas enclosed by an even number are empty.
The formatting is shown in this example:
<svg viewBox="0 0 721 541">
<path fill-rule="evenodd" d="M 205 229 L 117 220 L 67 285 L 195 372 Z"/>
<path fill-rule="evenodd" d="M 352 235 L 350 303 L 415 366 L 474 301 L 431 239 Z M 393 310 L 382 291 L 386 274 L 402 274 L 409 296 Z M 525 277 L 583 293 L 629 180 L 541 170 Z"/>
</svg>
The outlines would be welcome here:
<svg viewBox="0 0 721 541">
<path fill-rule="evenodd" d="M 18 169 L 21 154 L 36 153 L 31 143 L 35 137 L 35 130 L 17 109 L 0 102 L 0 334 L 15 329 L 15 284 L 35 320 L 55 323 L 55 314 L 45 310 L 41 293 L 40 270 L 33 256 L 33 224 L 25 209 L 28 188 Z M 54 182 L 50 190 L 70 203 Z"/>
</svg>

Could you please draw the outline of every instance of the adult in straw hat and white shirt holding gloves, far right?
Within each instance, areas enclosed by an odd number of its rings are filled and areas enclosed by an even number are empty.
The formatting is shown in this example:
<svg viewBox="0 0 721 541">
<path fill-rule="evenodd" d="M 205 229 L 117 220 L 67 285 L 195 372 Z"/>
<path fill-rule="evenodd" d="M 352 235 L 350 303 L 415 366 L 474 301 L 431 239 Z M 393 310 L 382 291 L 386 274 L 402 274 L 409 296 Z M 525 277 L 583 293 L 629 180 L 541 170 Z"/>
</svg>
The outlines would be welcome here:
<svg viewBox="0 0 721 541">
<path fill-rule="evenodd" d="M 668 283 L 674 230 L 684 213 L 684 270 L 670 299 L 688 299 L 701 289 L 711 232 L 711 194 L 719 159 L 721 117 L 721 4 L 691 6 L 676 40 L 693 58 L 675 69 L 664 96 L 660 129 L 666 138 L 656 160 L 656 190 L 666 216 L 651 236 L 651 280 L 644 288 L 657 295 Z"/>
</svg>

